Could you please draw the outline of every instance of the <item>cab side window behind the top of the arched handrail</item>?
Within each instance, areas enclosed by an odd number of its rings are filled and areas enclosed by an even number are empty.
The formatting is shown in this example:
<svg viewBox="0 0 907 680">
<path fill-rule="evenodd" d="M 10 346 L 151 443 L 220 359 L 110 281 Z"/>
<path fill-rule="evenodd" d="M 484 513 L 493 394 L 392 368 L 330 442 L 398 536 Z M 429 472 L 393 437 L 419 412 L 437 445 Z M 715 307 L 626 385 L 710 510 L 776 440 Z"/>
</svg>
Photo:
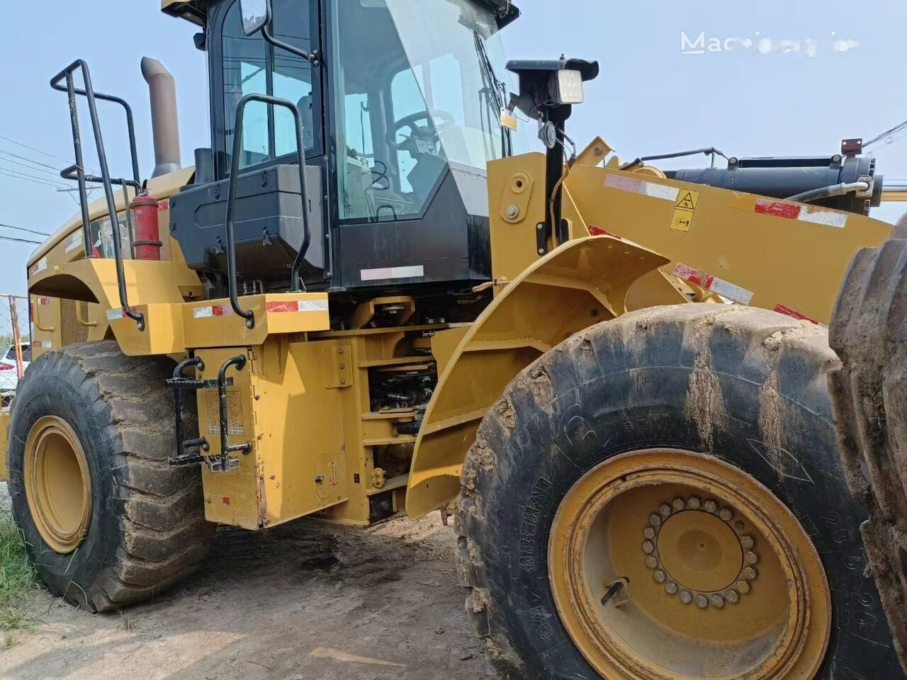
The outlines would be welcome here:
<svg viewBox="0 0 907 680">
<path fill-rule="evenodd" d="M 271 30 L 285 43 L 311 50 L 311 12 L 308 0 L 275 0 Z M 261 34 L 242 31 L 239 2 L 230 5 L 223 24 L 224 149 L 233 148 L 236 109 L 244 96 L 270 94 L 297 104 L 306 128 L 307 151 L 314 151 L 312 67 L 307 60 L 269 45 Z M 246 107 L 239 167 L 248 168 L 296 152 L 296 130 L 292 115 L 261 102 Z"/>
</svg>

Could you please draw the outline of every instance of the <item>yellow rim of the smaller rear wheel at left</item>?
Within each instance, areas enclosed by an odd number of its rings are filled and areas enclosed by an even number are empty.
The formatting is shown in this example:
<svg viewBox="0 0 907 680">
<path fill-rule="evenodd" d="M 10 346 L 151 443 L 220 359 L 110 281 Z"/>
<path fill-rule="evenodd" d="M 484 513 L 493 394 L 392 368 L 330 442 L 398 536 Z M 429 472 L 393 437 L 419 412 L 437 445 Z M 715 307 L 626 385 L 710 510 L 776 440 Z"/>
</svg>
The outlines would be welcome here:
<svg viewBox="0 0 907 680">
<path fill-rule="evenodd" d="M 82 444 L 55 415 L 34 423 L 25 442 L 25 497 L 41 538 L 59 553 L 79 547 L 92 513 L 92 485 Z"/>
</svg>

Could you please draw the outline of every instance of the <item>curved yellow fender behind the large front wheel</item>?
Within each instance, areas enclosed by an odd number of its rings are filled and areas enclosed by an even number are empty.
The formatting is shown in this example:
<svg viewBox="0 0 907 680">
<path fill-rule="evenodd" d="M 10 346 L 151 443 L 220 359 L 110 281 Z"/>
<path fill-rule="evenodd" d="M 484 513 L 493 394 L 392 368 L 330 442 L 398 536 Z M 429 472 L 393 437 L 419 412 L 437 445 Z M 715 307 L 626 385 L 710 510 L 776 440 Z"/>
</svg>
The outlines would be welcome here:
<svg viewBox="0 0 907 680">
<path fill-rule="evenodd" d="M 577 238 L 506 284 L 473 325 L 435 335 L 441 374 L 415 442 L 410 517 L 456 498 L 479 423 L 516 374 L 583 328 L 626 314 L 633 283 L 668 262 L 617 238 Z"/>
</svg>

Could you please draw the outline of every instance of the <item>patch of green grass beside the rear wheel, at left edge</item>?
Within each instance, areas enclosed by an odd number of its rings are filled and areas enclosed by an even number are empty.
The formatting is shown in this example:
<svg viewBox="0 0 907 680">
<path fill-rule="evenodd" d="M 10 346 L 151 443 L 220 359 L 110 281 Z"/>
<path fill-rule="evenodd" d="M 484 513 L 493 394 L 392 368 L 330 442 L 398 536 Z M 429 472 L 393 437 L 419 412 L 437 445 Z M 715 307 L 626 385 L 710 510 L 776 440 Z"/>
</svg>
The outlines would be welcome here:
<svg viewBox="0 0 907 680">
<path fill-rule="evenodd" d="M 0 509 L 0 631 L 26 625 L 23 599 L 35 586 L 37 577 L 25 554 L 22 532 L 15 526 L 9 510 Z M 11 646 L 12 640 L 15 636 L 7 633 L 0 644 Z"/>
</svg>

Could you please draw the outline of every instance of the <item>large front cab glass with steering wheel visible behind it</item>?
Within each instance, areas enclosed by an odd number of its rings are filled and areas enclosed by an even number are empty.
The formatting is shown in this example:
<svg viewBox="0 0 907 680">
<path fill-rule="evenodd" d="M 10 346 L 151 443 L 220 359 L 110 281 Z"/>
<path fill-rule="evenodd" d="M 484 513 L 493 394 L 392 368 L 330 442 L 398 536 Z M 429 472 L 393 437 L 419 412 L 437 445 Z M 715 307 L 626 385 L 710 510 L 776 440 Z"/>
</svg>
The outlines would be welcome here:
<svg viewBox="0 0 907 680">
<path fill-rule="evenodd" d="M 341 219 L 414 217 L 448 167 L 474 175 L 527 150 L 522 135 L 501 127 L 513 88 L 489 9 L 476 0 L 333 6 Z"/>
</svg>

